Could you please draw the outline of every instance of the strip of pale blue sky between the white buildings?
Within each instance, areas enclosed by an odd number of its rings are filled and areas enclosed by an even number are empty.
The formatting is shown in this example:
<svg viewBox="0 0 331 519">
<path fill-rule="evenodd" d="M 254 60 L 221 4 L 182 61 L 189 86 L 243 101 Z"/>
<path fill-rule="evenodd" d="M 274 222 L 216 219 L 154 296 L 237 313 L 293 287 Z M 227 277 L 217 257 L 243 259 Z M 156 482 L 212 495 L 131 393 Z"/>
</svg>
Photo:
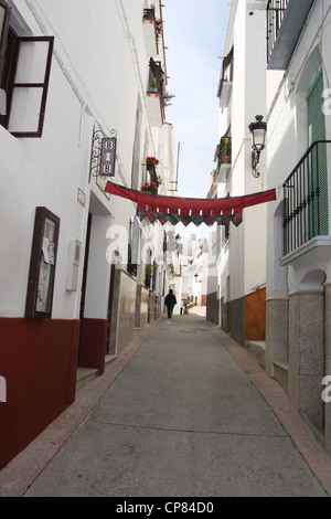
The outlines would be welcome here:
<svg viewBox="0 0 331 519">
<path fill-rule="evenodd" d="M 231 0 L 163 0 L 168 85 L 178 195 L 206 198 L 220 140 L 218 99 Z M 178 145 L 181 146 L 178 161 Z"/>
</svg>

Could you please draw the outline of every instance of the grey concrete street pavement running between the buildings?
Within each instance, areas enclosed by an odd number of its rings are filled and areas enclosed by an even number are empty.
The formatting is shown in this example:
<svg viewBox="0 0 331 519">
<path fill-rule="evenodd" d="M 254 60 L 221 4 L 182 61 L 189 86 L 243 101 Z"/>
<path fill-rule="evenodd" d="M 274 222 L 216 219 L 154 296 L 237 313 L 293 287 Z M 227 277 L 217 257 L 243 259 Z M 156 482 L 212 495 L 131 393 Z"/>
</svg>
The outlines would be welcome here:
<svg viewBox="0 0 331 519">
<path fill-rule="evenodd" d="M 199 308 L 158 319 L 0 472 L 2 497 L 330 495 L 284 390 Z"/>
</svg>

